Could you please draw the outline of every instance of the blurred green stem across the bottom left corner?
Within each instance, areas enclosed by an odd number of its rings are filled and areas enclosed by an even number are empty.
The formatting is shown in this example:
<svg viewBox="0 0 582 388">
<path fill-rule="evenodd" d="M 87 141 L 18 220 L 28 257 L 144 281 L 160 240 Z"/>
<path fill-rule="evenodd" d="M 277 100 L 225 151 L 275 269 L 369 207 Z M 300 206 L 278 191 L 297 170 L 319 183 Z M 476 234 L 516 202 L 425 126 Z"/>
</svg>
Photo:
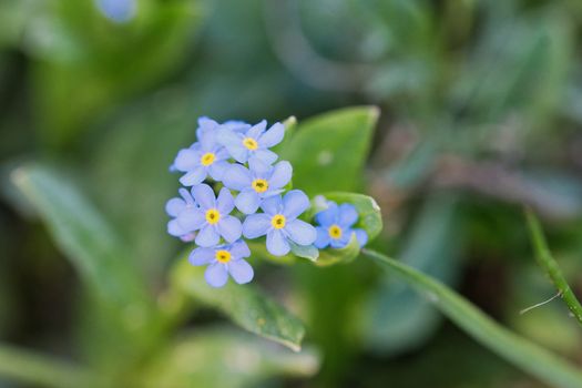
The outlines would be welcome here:
<svg viewBox="0 0 582 388">
<path fill-rule="evenodd" d="M 8 345 L 0 345 L 0 376 L 41 387 L 78 388 L 104 385 L 82 367 Z"/>
</svg>

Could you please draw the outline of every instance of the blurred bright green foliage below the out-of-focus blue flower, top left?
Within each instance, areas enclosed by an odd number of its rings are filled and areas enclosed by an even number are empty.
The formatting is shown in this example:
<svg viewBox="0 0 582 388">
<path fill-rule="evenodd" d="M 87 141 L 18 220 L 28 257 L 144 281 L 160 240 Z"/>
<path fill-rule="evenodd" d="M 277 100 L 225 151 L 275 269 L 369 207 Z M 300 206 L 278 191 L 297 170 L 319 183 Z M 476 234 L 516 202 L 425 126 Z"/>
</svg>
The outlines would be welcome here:
<svg viewBox="0 0 582 388">
<path fill-rule="evenodd" d="M 136 17 L 123 25 L 91 2 L 47 7 L 27 40 L 39 59 L 32 74 L 44 142 L 67 144 L 116 104 L 175 70 L 200 25 L 200 4 L 140 1 Z"/>
</svg>

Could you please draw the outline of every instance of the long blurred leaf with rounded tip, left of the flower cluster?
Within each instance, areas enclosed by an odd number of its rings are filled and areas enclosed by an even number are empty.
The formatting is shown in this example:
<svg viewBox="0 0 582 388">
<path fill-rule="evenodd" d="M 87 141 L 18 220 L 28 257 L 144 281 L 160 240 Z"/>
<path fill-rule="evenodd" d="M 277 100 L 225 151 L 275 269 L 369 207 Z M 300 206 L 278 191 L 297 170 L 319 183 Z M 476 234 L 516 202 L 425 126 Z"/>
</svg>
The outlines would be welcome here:
<svg viewBox="0 0 582 388">
<path fill-rule="evenodd" d="M 143 345 L 155 324 L 155 312 L 152 296 L 127 259 L 127 247 L 63 174 L 37 164 L 19 167 L 12 176 L 105 309 L 112 327 L 127 336 L 123 350 Z"/>
</svg>

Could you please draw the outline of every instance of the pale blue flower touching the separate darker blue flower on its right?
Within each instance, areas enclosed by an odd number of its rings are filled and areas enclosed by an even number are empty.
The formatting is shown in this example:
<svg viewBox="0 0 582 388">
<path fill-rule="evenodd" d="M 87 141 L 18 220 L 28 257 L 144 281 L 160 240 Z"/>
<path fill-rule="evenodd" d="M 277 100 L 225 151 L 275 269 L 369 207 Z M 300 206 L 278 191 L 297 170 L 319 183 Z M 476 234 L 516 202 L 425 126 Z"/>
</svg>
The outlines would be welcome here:
<svg viewBox="0 0 582 388">
<path fill-rule="evenodd" d="M 243 223 L 243 235 L 257 238 L 267 235 L 267 251 L 284 256 L 290 251 L 289 241 L 312 245 L 317 237 L 315 227 L 297 217 L 309 207 L 309 198 L 299 190 L 292 190 L 282 198 L 274 195 L 263 201 L 265 213 L 252 214 Z"/>
</svg>

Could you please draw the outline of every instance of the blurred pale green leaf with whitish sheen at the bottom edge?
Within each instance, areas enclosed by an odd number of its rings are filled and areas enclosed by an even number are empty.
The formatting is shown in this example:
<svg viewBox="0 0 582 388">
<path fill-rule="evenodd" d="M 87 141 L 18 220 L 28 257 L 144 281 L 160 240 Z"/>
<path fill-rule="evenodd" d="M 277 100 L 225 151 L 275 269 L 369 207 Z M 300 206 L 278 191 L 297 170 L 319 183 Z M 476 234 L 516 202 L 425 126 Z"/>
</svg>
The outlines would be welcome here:
<svg viewBox="0 0 582 388">
<path fill-rule="evenodd" d="M 143 387 L 257 387 L 274 376 L 308 377 L 318 369 L 312 349 L 292 353 L 226 327 L 177 338 L 140 374 Z"/>
</svg>

